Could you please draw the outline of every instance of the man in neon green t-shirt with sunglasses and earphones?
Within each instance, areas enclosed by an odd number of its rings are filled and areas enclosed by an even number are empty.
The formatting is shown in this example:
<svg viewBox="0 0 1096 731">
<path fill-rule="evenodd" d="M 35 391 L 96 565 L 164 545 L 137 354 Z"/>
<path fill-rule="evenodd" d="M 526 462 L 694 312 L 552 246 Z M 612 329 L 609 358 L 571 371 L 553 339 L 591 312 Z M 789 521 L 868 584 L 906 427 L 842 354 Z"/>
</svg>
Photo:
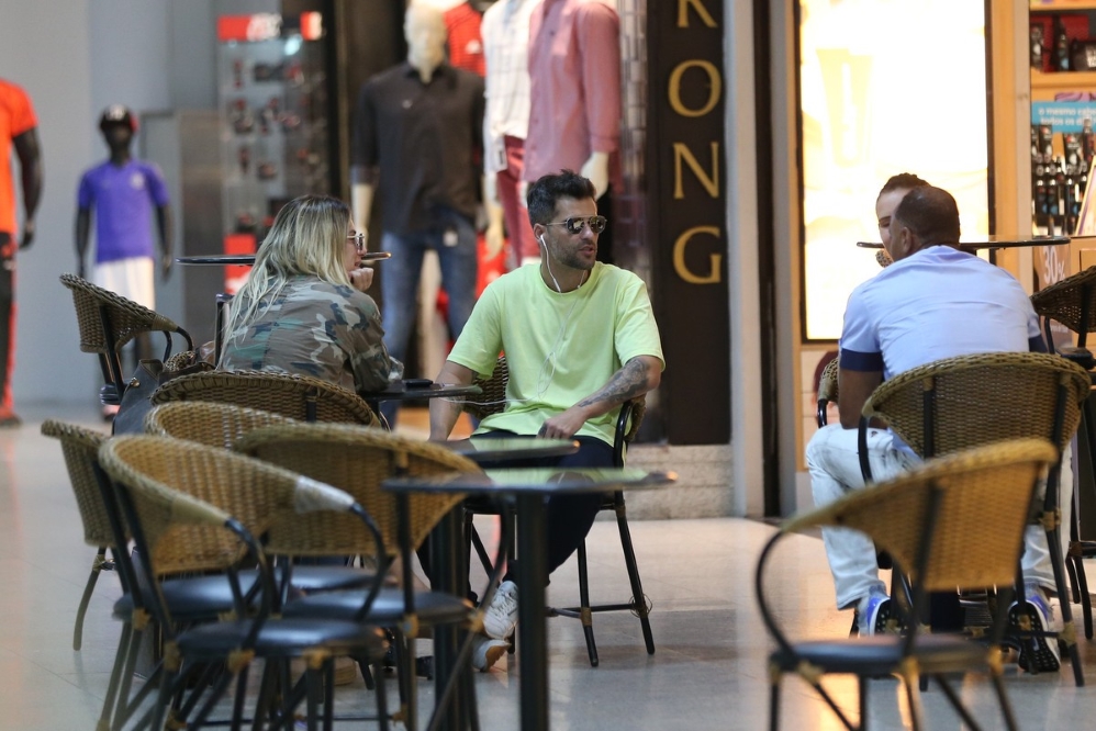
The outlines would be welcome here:
<svg viewBox="0 0 1096 731">
<path fill-rule="evenodd" d="M 525 266 L 492 282 L 449 353 L 438 383 L 471 383 L 506 355 L 506 408 L 476 434 L 577 439 L 579 451 L 547 466 L 611 466 L 620 404 L 659 384 L 666 363 L 647 286 L 629 271 L 596 261 L 593 184 L 563 170 L 529 187 L 529 222 L 541 248 Z M 460 404 L 430 402 L 430 439 L 449 437 Z M 559 495 L 547 504 L 548 572 L 585 539 L 600 495 Z M 517 587 L 507 576 L 484 617 L 489 638 L 508 637 L 517 621 Z M 501 652 L 481 643 L 473 656 L 487 670 Z"/>
</svg>

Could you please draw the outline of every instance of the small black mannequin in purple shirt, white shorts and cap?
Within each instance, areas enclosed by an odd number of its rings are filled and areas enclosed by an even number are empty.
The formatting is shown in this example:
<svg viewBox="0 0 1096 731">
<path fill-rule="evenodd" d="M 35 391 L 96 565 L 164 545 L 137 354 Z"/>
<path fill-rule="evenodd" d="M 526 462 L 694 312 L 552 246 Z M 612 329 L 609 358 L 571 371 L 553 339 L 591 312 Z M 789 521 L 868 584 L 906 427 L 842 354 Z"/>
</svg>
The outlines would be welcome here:
<svg viewBox="0 0 1096 731">
<path fill-rule="evenodd" d="M 153 213 L 159 238 L 160 273 L 171 272 L 171 224 L 167 183 L 159 169 L 133 158 L 130 147 L 137 132 L 136 117 L 114 104 L 99 117 L 99 130 L 110 149 L 110 159 L 85 171 L 76 211 L 76 267 L 86 272 L 86 255 L 96 217 L 96 265 L 92 281 L 149 310 L 156 308 Z M 136 339 L 138 359 L 152 358 L 148 335 Z M 116 412 L 118 407 L 105 407 Z"/>
</svg>

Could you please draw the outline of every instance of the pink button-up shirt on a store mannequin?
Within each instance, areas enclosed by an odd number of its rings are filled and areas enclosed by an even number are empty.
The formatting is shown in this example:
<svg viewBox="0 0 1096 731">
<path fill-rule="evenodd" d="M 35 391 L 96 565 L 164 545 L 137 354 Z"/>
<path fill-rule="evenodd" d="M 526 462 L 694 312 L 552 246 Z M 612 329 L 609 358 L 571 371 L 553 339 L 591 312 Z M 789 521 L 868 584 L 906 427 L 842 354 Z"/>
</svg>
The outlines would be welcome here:
<svg viewBox="0 0 1096 731">
<path fill-rule="evenodd" d="M 616 153 L 619 27 L 616 11 L 599 0 L 544 0 L 533 11 L 526 180 L 562 168 L 579 172 L 591 153 Z"/>
</svg>

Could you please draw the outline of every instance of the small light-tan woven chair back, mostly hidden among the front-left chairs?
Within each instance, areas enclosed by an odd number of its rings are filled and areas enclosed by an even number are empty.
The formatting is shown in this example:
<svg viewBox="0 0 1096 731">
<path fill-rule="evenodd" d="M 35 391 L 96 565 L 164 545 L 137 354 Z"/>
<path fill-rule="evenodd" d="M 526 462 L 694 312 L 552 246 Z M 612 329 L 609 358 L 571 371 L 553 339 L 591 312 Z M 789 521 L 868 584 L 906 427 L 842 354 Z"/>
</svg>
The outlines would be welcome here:
<svg viewBox="0 0 1096 731">
<path fill-rule="evenodd" d="M 232 449 L 248 431 L 295 419 L 259 408 L 210 401 L 172 401 L 154 406 L 145 416 L 145 434 L 189 439 L 208 447 Z"/>
</svg>

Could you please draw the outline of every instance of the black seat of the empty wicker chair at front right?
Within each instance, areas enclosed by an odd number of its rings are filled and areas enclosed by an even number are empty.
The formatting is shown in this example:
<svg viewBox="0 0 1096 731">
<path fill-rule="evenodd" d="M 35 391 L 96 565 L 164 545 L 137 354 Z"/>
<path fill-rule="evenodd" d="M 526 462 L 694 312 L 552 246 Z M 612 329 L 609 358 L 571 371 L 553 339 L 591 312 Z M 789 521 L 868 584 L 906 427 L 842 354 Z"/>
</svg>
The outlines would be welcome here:
<svg viewBox="0 0 1096 731">
<path fill-rule="evenodd" d="M 898 671 L 904 642 L 897 634 L 798 642 L 794 653 L 778 650 L 769 660 L 789 673 L 807 662 L 825 673 L 887 675 Z M 986 645 L 958 634 L 920 634 L 914 649 L 917 665 L 926 674 L 966 670 L 988 654 Z"/>
</svg>

